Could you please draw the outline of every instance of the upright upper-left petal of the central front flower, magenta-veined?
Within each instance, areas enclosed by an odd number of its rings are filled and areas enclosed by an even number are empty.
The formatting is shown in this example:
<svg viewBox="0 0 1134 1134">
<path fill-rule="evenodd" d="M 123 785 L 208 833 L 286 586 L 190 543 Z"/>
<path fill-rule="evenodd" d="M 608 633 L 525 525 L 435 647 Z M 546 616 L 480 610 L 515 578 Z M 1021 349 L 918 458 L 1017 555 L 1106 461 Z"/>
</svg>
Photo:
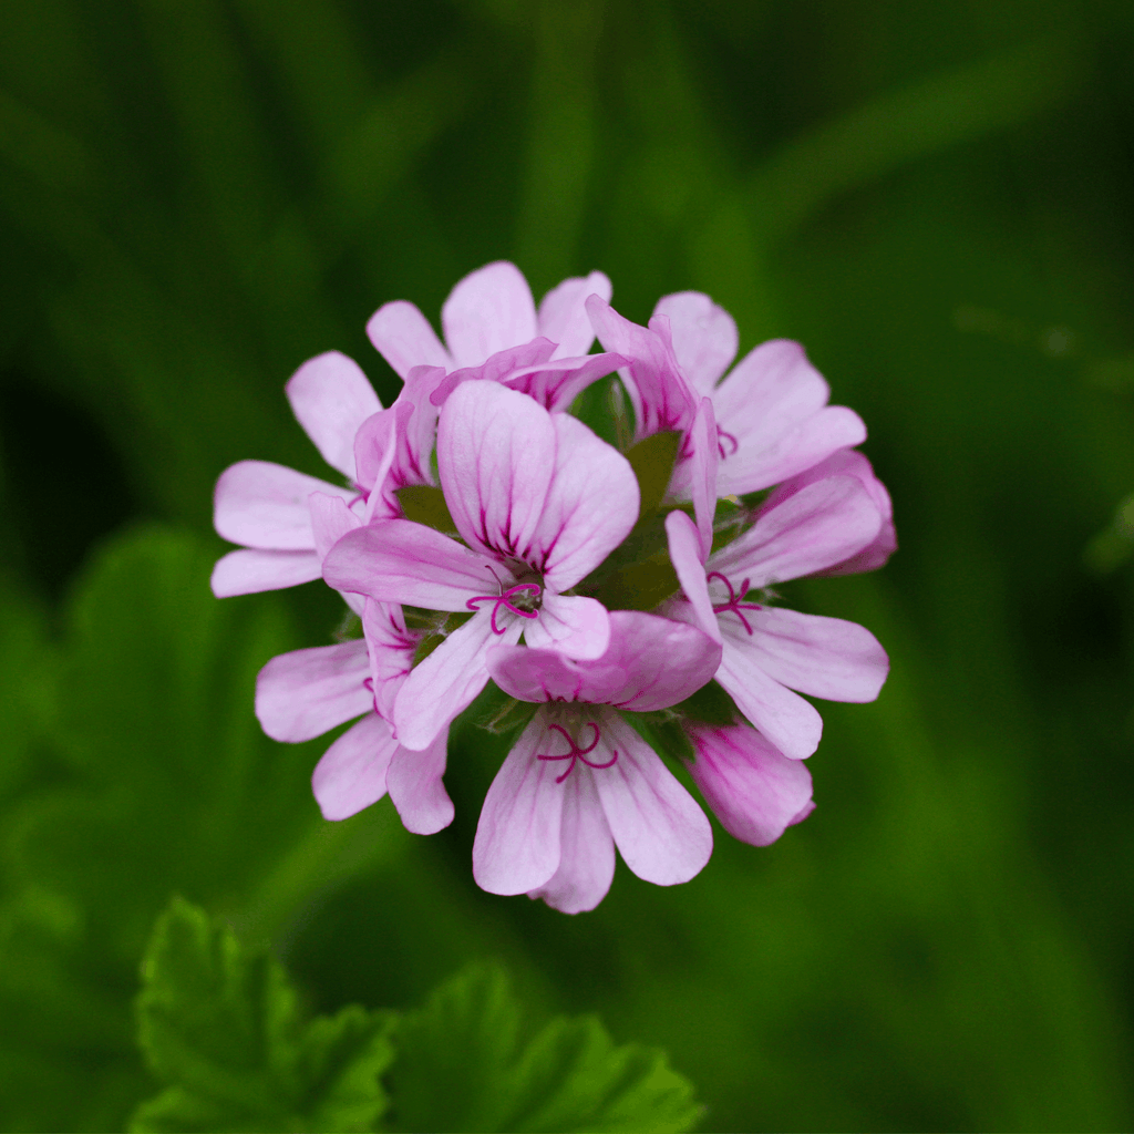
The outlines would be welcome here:
<svg viewBox="0 0 1134 1134">
<path fill-rule="evenodd" d="M 551 414 L 494 382 L 466 382 L 441 411 L 437 458 L 449 513 L 465 542 L 502 557 L 522 556 L 541 523 L 556 467 Z"/>
</svg>

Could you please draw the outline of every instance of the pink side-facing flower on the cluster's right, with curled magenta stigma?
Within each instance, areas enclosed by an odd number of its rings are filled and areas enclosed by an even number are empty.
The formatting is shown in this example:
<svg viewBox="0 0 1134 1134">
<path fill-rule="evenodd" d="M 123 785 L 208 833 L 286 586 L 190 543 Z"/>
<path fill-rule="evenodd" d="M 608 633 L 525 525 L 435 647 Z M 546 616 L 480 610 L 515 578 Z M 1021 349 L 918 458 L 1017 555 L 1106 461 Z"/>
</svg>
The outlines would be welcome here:
<svg viewBox="0 0 1134 1134">
<path fill-rule="evenodd" d="M 720 551 L 704 556 L 693 522 L 666 519 L 669 555 L 685 592 L 666 613 L 700 626 L 723 646 L 717 680 L 784 755 L 810 756 L 822 719 L 793 693 L 829 701 L 873 701 L 889 670 L 886 651 L 862 626 L 768 606 L 750 592 L 822 572 L 869 547 L 882 526 L 871 493 L 855 476 L 801 488 Z"/>
</svg>

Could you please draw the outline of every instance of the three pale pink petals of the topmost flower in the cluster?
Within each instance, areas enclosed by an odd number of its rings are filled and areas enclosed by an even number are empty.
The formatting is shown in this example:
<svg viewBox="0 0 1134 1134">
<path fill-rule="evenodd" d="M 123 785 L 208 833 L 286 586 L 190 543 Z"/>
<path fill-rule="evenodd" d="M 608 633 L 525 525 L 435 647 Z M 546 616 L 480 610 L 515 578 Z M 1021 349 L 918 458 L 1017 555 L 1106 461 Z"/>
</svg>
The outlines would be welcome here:
<svg viewBox="0 0 1134 1134">
<path fill-rule="evenodd" d="M 586 355 L 594 341 L 583 306 L 590 295 L 610 298 L 610 280 L 602 272 L 564 280 L 536 311 L 523 273 L 501 260 L 466 276 L 445 301 L 445 346 L 421 311 L 404 299 L 379 307 L 366 333 L 401 378 L 415 366 L 439 366 L 446 373 L 482 366 L 493 355 L 533 339 L 555 344 L 539 362 L 575 358 Z"/>
</svg>

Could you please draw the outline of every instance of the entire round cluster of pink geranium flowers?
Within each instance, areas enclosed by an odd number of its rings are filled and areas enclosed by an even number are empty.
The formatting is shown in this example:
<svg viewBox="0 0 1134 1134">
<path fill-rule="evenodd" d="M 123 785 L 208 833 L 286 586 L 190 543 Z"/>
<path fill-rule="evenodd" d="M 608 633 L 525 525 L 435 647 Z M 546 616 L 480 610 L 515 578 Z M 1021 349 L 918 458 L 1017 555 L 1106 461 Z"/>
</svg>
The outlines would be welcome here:
<svg viewBox="0 0 1134 1134">
<path fill-rule="evenodd" d="M 726 375 L 736 325 L 708 296 L 666 296 L 640 327 L 610 294 L 594 272 L 536 308 L 513 264 L 489 264 L 446 301 L 443 344 L 387 304 L 367 332 L 404 380 L 393 405 L 333 352 L 287 384 L 345 483 L 245 460 L 215 494 L 242 545 L 217 595 L 322 576 L 358 616 L 359 637 L 274 658 L 256 687 L 278 741 L 359 718 L 315 768 L 324 816 L 389 793 L 411 831 L 447 826 L 449 728 L 491 680 L 522 731 L 473 873 L 567 913 L 602 900 L 615 847 L 661 886 L 709 860 L 709 820 L 644 736 L 676 736 L 725 829 L 767 845 L 813 807 L 802 761 L 822 721 L 799 694 L 871 701 L 888 669 L 863 627 L 772 590 L 894 551 L 862 421 L 794 342 Z"/>
</svg>

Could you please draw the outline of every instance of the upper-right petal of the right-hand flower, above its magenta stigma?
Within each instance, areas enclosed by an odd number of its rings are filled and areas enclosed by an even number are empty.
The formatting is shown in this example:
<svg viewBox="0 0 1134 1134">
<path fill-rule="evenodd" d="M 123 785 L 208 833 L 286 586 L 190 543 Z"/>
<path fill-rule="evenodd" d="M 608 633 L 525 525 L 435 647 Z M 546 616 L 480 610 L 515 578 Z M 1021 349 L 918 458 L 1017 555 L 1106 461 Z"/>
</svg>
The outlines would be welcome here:
<svg viewBox="0 0 1134 1134">
<path fill-rule="evenodd" d="M 748 578 L 754 587 L 768 586 L 841 562 L 866 547 L 881 524 L 858 480 L 829 476 L 761 510 L 747 532 L 710 557 L 708 567 L 734 585 Z"/>
</svg>

